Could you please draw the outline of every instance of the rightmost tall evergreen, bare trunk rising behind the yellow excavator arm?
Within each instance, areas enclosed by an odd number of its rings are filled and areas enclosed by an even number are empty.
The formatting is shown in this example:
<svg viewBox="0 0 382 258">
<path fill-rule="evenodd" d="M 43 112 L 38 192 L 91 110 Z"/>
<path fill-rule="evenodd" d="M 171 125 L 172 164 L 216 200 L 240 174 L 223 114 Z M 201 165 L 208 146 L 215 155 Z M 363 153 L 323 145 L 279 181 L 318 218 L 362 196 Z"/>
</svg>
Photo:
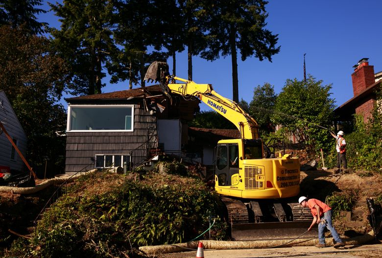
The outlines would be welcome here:
<svg viewBox="0 0 382 258">
<path fill-rule="evenodd" d="M 211 5 L 211 21 L 207 29 L 208 47 L 201 52 L 201 57 L 215 60 L 231 55 L 233 100 L 239 102 L 238 53 L 244 61 L 255 56 L 263 61 L 271 61 L 272 55 L 280 51 L 276 47 L 277 34 L 265 29 L 264 0 L 217 0 Z"/>
</svg>

